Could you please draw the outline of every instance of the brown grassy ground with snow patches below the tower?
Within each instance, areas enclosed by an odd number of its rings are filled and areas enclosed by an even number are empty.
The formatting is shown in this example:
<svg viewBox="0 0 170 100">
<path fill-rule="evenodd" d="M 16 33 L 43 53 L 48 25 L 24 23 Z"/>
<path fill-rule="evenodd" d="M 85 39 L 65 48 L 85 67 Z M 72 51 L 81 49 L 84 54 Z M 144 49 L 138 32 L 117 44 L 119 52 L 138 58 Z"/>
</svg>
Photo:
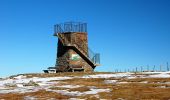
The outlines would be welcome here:
<svg viewBox="0 0 170 100">
<path fill-rule="evenodd" d="M 23 74 L 0 79 L 0 100 L 170 100 L 170 72 Z"/>
</svg>

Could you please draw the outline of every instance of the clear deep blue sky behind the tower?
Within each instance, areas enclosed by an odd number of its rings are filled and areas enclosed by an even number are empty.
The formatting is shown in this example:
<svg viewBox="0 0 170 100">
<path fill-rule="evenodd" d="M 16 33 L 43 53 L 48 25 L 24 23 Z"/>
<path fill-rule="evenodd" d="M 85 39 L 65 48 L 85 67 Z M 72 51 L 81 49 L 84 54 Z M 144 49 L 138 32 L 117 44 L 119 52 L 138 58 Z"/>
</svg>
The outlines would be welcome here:
<svg viewBox="0 0 170 100">
<path fill-rule="evenodd" d="M 88 23 L 96 71 L 170 62 L 170 0 L 0 0 L 0 77 L 55 65 L 53 25 Z"/>
</svg>

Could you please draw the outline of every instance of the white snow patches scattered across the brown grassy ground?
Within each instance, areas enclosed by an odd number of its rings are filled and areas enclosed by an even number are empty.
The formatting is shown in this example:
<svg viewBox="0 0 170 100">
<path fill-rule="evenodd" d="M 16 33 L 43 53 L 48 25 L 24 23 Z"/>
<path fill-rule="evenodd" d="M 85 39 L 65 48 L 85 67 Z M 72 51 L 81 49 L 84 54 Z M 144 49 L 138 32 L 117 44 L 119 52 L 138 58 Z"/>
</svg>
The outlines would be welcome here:
<svg viewBox="0 0 170 100">
<path fill-rule="evenodd" d="M 74 77 L 33 77 L 27 78 L 24 75 L 19 75 L 14 77 L 13 79 L 5 78 L 0 80 L 0 93 L 25 93 L 25 92 L 35 92 L 41 89 L 46 89 L 48 91 L 53 91 L 57 93 L 61 93 L 63 95 L 73 95 L 80 96 L 86 94 L 97 94 L 99 92 L 109 92 L 109 89 L 98 89 L 94 86 L 87 86 L 90 88 L 89 91 L 79 92 L 79 91 L 68 91 L 70 88 L 78 88 L 82 85 L 57 85 L 60 83 L 60 80 L 68 80 L 73 78 L 105 78 L 104 83 L 106 84 L 126 84 L 128 82 L 118 82 L 118 80 L 112 80 L 109 78 L 170 78 L 170 72 L 142 72 L 140 74 L 134 73 L 111 73 L 111 74 L 97 74 L 97 75 L 85 75 L 85 76 L 74 76 Z M 38 85 L 27 86 L 29 82 L 33 82 Z M 147 81 L 139 82 L 139 83 L 148 83 Z M 165 84 L 170 84 L 170 82 L 165 82 Z M 52 90 L 51 87 L 62 87 L 66 88 L 66 90 Z"/>
</svg>

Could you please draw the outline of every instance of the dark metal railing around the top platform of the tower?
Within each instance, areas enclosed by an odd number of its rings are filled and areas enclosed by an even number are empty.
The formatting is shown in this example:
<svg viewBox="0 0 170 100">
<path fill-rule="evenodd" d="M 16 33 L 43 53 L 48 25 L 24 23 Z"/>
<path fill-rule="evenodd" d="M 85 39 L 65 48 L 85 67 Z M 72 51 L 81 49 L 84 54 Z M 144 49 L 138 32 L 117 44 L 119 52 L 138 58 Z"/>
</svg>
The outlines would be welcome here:
<svg viewBox="0 0 170 100">
<path fill-rule="evenodd" d="M 85 32 L 87 33 L 87 23 L 82 22 L 65 22 L 54 25 L 54 35 L 66 32 Z"/>
</svg>

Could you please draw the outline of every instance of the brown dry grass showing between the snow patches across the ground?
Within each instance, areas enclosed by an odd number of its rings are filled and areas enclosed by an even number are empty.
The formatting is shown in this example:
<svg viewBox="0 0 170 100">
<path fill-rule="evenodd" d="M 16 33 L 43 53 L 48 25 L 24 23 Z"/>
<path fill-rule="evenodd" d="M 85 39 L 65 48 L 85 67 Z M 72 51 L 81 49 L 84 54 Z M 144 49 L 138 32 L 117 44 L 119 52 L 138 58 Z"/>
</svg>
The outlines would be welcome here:
<svg viewBox="0 0 170 100">
<path fill-rule="evenodd" d="M 108 73 L 57 73 L 57 74 L 27 74 L 27 77 L 55 77 L 55 76 L 83 76 L 92 74 L 108 74 Z M 136 74 L 141 75 L 141 74 Z M 170 100 L 170 78 L 108 78 L 107 80 L 118 80 L 118 82 L 128 82 L 125 84 L 106 84 L 105 78 L 73 78 L 69 80 L 62 80 L 60 85 L 82 85 L 79 88 L 63 88 L 63 87 L 52 87 L 53 90 L 68 90 L 68 91 L 89 91 L 89 86 L 95 86 L 100 89 L 110 89 L 110 92 L 101 92 L 95 95 L 82 95 L 73 98 L 87 99 L 87 100 L 118 100 L 122 98 L 125 100 Z M 140 83 L 145 82 L 148 83 Z M 59 93 L 48 92 L 41 90 L 38 92 L 24 93 L 24 94 L 0 94 L 0 99 L 5 100 L 23 100 L 25 96 L 32 96 L 41 100 L 50 98 L 56 99 L 69 99 L 70 96 L 64 96 Z"/>
</svg>

